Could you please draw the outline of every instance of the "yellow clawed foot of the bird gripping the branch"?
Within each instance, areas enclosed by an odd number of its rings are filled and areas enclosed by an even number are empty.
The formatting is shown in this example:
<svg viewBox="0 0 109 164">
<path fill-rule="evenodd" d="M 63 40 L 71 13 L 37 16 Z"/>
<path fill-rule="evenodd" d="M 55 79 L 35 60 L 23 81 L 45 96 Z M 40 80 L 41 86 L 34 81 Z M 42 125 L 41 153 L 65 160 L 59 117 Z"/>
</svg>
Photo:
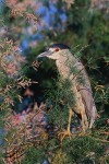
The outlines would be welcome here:
<svg viewBox="0 0 109 164">
<path fill-rule="evenodd" d="M 63 139 L 65 137 L 69 137 L 71 139 L 72 138 L 72 132 L 70 130 L 65 130 L 63 132 L 58 133 L 58 138 L 60 139 L 61 142 L 63 141 Z"/>
</svg>

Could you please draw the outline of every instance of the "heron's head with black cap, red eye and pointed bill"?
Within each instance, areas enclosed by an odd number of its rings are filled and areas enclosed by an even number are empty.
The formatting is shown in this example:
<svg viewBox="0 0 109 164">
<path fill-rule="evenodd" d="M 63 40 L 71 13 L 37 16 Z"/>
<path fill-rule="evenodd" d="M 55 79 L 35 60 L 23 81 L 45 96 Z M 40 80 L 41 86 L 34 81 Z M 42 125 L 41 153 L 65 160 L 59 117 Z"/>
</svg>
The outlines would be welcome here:
<svg viewBox="0 0 109 164">
<path fill-rule="evenodd" d="M 64 49 L 70 49 L 70 48 L 62 44 L 55 44 L 55 45 L 50 46 L 47 51 L 38 55 L 37 58 L 47 57 L 49 59 L 57 60 L 60 58 L 60 55 L 61 55 L 62 50 L 64 50 Z"/>
</svg>

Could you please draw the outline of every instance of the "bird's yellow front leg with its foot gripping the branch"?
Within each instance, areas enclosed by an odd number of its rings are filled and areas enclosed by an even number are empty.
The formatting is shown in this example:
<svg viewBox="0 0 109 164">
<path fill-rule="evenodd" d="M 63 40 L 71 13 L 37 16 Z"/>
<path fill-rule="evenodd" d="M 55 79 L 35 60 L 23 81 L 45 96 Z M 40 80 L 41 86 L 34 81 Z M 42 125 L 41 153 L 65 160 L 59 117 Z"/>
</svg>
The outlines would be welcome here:
<svg viewBox="0 0 109 164">
<path fill-rule="evenodd" d="M 71 133 L 71 130 L 70 130 L 72 116 L 73 116 L 73 110 L 70 108 L 70 110 L 69 110 L 69 122 L 68 122 L 68 128 L 66 128 L 65 131 L 60 132 L 60 133 L 58 134 L 58 137 L 61 136 L 61 142 L 62 142 L 62 140 L 63 140 L 65 137 L 70 137 L 70 139 L 71 139 L 71 137 L 72 137 L 72 133 Z"/>
</svg>

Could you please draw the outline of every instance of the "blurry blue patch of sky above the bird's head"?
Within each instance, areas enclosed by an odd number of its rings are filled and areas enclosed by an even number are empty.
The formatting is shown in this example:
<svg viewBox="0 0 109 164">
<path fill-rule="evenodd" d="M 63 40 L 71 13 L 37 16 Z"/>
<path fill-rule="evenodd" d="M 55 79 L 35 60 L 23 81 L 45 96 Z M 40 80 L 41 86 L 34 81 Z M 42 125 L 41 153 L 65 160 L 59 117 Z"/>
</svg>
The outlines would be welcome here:
<svg viewBox="0 0 109 164">
<path fill-rule="evenodd" d="M 44 0 L 45 2 L 45 0 Z M 65 23 L 66 23 L 66 13 L 64 8 L 57 8 L 57 3 L 51 2 L 50 0 L 46 0 L 48 2 L 48 5 L 45 5 L 43 2 L 36 2 L 39 3 L 39 8 L 36 11 L 36 14 L 41 15 L 41 24 L 38 26 L 38 32 L 34 34 L 33 36 L 27 36 L 23 42 L 22 42 L 22 48 L 27 49 L 29 42 L 38 42 L 45 36 L 41 35 L 41 31 L 44 30 L 49 30 L 49 31 L 64 31 L 65 28 Z M 44 25 L 45 24 L 45 25 Z"/>
</svg>

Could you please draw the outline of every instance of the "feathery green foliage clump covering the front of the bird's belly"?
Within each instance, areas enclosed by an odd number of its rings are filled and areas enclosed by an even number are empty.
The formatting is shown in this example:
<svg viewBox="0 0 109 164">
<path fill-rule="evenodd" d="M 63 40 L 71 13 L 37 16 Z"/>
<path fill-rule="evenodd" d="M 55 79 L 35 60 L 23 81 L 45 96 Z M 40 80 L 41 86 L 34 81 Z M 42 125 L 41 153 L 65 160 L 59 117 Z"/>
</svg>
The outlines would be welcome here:
<svg viewBox="0 0 109 164">
<path fill-rule="evenodd" d="M 74 94 L 71 91 L 71 85 L 69 80 L 55 80 L 52 87 L 46 91 L 48 104 L 52 104 L 52 108 L 47 113 L 48 121 L 58 125 L 59 129 L 68 124 L 69 107 L 74 105 Z"/>
</svg>

